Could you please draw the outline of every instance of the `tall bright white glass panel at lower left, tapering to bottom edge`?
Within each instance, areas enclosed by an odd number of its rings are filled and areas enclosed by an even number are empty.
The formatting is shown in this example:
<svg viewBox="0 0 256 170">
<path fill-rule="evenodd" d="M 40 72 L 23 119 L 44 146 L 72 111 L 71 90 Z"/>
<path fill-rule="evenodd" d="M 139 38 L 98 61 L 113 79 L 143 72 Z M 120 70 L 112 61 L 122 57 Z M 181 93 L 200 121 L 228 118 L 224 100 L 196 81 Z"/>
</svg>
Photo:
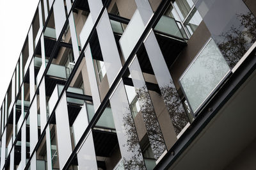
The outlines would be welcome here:
<svg viewBox="0 0 256 170">
<path fill-rule="evenodd" d="M 60 169 L 63 169 L 63 166 L 72 152 L 66 93 L 64 93 L 63 97 L 61 97 L 60 103 L 55 111 L 55 116 L 58 140 L 58 157 Z"/>
</svg>

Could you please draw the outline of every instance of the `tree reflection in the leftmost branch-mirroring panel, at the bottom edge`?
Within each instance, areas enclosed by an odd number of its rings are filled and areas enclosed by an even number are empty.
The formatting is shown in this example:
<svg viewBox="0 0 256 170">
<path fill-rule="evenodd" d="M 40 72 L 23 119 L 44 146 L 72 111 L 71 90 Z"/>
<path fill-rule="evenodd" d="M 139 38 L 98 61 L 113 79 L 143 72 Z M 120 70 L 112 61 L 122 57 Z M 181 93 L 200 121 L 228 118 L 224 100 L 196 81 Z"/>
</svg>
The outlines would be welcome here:
<svg viewBox="0 0 256 170">
<path fill-rule="evenodd" d="M 145 169 L 132 114 L 129 108 L 126 108 L 126 110 L 127 112 L 125 112 L 125 115 L 123 116 L 123 122 L 127 143 L 124 144 L 124 148 L 126 148 L 128 152 L 132 152 L 133 156 L 131 158 L 123 157 L 124 167 L 125 169 Z"/>
</svg>

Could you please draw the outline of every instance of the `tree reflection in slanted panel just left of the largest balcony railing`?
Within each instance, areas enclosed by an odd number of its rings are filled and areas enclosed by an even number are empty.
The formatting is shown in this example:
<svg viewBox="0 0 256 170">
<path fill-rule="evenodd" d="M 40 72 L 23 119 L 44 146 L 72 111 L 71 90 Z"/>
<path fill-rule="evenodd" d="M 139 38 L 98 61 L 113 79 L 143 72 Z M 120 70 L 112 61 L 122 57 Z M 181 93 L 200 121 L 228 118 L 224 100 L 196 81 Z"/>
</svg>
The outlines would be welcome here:
<svg viewBox="0 0 256 170">
<path fill-rule="evenodd" d="M 187 125 L 188 116 L 186 115 L 185 109 L 172 81 L 170 81 L 170 85 L 161 86 L 160 91 L 163 96 L 166 109 L 170 114 L 175 133 L 178 135 Z"/>
</svg>

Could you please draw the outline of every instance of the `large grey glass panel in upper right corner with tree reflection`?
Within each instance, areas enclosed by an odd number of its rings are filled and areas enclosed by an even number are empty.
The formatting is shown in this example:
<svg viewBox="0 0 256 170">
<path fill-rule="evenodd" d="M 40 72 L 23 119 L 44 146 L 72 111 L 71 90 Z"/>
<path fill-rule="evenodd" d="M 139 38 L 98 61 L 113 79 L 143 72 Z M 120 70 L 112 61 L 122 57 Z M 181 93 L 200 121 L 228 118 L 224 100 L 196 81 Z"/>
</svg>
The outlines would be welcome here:
<svg viewBox="0 0 256 170">
<path fill-rule="evenodd" d="M 195 6 L 223 57 L 233 68 L 256 41 L 255 17 L 241 0 L 198 0 Z"/>
</svg>

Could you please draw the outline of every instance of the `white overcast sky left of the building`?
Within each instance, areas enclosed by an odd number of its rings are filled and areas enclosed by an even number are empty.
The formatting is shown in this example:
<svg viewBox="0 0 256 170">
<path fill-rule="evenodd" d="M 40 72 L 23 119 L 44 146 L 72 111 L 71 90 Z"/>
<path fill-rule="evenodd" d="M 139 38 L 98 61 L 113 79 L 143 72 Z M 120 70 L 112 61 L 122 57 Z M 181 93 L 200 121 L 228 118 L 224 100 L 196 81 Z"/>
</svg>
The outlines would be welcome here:
<svg viewBox="0 0 256 170">
<path fill-rule="evenodd" d="M 0 107 L 39 0 L 0 0 Z"/>
</svg>

